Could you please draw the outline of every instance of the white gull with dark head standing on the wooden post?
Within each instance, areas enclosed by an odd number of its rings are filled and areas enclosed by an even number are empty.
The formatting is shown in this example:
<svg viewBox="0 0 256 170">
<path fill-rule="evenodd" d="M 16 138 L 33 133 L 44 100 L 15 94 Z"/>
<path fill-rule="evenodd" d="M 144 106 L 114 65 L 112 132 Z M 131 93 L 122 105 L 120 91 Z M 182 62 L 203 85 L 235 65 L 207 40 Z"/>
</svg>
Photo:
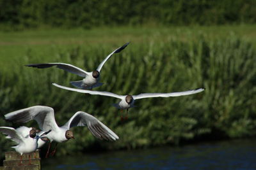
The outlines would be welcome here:
<svg viewBox="0 0 256 170">
<path fill-rule="evenodd" d="M 47 132 L 40 132 L 40 134 L 36 135 L 36 129 L 33 127 L 22 126 L 17 129 L 14 129 L 13 127 L 0 127 L 0 132 L 8 135 L 6 138 L 12 139 L 18 144 L 17 146 L 12 146 L 12 148 L 15 148 L 16 152 L 20 153 L 21 165 L 22 154 L 35 152 L 35 150 L 39 148 L 38 140 L 40 141 L 40 138 L 44 138 L 44 136 L 51 132 L 51 130 Z M 44 141 L 41 142 L 41 146 L 42 143 L 44 144 Z M 30 155 L 29 164 L 31 164 Z"/>
</svg>

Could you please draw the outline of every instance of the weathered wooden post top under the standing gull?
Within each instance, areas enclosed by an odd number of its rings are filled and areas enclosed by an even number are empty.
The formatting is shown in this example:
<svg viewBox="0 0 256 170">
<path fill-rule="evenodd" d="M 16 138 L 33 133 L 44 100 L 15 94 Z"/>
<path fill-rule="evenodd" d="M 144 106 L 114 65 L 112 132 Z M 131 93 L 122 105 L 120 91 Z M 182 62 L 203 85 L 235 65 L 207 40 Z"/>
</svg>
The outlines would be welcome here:
<svg viewBox="0 0 256 170">
<path fill-rule="evenodd" d="M 29 155 L 31 158 L 31 165 L 29 165 Z M 36 150 L 32 153 L 24 153 L 22 155 L 22 165 L 20 166 L 20 153 L 17 152 L 6 152 L 5 153 L 5 160 L 3 162 L 2 167 L 0 170 L 40 170 L 40 155 L 39 150 Z"/>
</svg>

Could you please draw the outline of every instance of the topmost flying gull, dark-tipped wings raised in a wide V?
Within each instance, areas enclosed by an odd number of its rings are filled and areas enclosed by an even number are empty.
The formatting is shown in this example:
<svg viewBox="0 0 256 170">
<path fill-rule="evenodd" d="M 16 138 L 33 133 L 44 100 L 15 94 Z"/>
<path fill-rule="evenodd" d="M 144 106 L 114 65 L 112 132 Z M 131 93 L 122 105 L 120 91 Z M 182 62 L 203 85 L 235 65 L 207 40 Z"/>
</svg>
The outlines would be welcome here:
<svg viewBox="0 0 256 170">
<path fill-rule="evenodd" d="M 108 55 L 108 57 L 106 57 L 100 63 L 100 65 L 97 67 L 97 69 L 95 71 L 92 71 L 92 72 L 87 72 L 87 71 L 84 71 L 83 69 L 80 69 L 79 67 L 73 66 L 71 64 L 61 63 L 61 62 L 52 62 L 52 63 L 44 63 L 44 64 L 28 64 L 26 66 L 28 66 L 28 67 L 37 67 L 39 69 L 44 69 L 44 68 L 47 68 L 47 67 L 57 66 L 60 69 L 64 69 L 65 71 L 68 71 L 68 72 L 73 73 L 73 74 L 77 74 L 78 76 L 81 76 L 81 77 L 84 77 L 84 79 L 80 80 L 80 81 L 70 81 L 70 83 L 72 85 L 74 85 L 75 87 L 77 87 L 79 89 L 87 89 L 87 90 L 89 89 L 89 90 L 91 90 L 94 87 L 99 87 L 100 85 L 103 84 L 103 83 L 99 83 L 99 81 L 100 81 L 100 69 L 105 64 L 105 62 L 113 55 L 113 53 L 121 52 L 122 50 L 124 50 L 124 48 L 127 45 L 129 45 L 129 43 L 126 43 L 125 45 L 117 48 L 112 53 L 110 53 Z"/>
</svg>

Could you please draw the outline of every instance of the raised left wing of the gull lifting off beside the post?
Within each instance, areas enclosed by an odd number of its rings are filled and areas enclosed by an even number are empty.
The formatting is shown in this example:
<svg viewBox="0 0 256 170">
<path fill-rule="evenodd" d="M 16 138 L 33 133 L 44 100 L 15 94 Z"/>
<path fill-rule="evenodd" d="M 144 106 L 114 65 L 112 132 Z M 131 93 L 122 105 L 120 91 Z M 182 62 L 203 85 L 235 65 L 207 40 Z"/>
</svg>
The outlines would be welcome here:
<svg viewBox="0 0 256 170">
<path fill-rule="evenodd" d="M 26 123 L 29 120 L 36 120 L 42 131 L 55 131 L 59 127 L 55 122 L 54 110 L 47 106 L 32 106 L 22 110 L 13 111 L 4 115 L 6 120 L 15 123 Z"/>
</svg>

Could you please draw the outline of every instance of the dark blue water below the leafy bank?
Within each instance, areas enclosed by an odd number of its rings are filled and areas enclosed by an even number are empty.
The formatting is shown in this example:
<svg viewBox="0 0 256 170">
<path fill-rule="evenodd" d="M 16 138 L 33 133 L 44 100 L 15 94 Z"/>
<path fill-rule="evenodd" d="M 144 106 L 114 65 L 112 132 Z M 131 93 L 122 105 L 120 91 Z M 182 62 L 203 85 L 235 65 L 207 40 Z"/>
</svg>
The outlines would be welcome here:
<svg viewBox="0 0 256 170">
<path fill-rule="evenodd" d="M 49 158 L 42 169 L 256 169 L 256 139 Z"/>
</svg>

